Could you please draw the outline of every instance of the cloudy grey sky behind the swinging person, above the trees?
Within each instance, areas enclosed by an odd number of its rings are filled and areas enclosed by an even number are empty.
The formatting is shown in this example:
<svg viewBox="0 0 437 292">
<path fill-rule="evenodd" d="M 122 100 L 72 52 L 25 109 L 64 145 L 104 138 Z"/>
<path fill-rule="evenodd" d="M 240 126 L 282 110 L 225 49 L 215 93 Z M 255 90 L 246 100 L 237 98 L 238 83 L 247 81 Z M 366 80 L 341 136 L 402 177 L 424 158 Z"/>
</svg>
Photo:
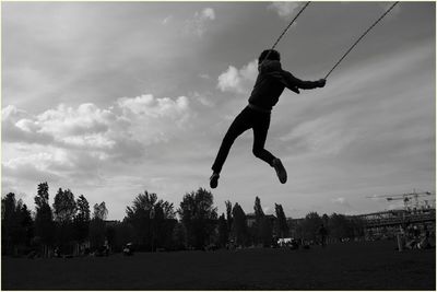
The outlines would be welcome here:
<svg viewBox="0 0 437 292">
<path fill-rule="evenodd" d="M 37 184 L 105 201 L 121 220 L 147 190 L 179 207 L 246 106 L 259 54 L 304 2 L 3 2 L 2 190 L 32 209 Z M 282 66 L 323 78 L 390 2 L 312 2 L 277 46 Z M 267 149 L 288 182 L 235 142 L 212 190 L 267 213 L 357 214 L 366 196 L 435 191 L 434 2 L 401 2 L 329 77 L 284 92 Z"/>
</svg>

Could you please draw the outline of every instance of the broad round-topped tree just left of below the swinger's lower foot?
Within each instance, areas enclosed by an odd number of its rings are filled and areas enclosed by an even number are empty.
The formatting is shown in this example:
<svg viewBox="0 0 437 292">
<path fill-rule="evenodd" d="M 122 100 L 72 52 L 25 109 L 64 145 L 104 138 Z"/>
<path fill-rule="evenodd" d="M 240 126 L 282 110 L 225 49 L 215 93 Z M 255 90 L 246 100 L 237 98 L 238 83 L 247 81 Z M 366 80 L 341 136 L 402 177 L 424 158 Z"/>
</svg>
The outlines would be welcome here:
<svg viewBox="0 0 437 292">
<path fill-rule="evenodd" d="M 217 208 L 210 191 L 199 188 L 186 194 L 178 213 L 187 231 L 188 245 L 201 249 L 210 242 L 217 219 Z"/>
</svg>

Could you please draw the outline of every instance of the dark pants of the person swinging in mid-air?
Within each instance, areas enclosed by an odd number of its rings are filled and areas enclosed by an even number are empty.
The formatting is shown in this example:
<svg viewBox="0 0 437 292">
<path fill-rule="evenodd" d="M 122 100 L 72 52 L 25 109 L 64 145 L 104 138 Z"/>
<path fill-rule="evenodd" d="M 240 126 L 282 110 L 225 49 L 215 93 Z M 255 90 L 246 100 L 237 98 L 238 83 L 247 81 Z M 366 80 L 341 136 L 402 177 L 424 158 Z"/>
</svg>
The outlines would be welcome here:
<svg viewBox="0 0 437 292">
<path fill-rule="evenodd" d="M 220 174 L 235 139 L 248 129 L 253 129 L 253 155 L 272 165 L 275 156 L 264 149 L 267 133 L 270 126 L 270 113 L 261 113 L 249 107 L 234 119 L 220 147 L 215 162 L 212 165 L 214 173 Z"/>
</svg>

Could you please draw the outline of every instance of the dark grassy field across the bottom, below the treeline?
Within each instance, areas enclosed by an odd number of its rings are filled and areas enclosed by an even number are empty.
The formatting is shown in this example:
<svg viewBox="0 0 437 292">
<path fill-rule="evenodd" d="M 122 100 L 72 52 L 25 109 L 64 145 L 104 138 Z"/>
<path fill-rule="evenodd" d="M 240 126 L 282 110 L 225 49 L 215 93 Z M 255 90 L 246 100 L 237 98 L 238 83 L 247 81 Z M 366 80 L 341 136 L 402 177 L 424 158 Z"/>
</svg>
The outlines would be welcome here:
<svg viewBox="0 0 437 292">
<path fill-rule="evenodd" d="M 435 290 L 436 250 L 394 242 L 310 249 L 2 258 L 2 290 Z"/>
</svg>

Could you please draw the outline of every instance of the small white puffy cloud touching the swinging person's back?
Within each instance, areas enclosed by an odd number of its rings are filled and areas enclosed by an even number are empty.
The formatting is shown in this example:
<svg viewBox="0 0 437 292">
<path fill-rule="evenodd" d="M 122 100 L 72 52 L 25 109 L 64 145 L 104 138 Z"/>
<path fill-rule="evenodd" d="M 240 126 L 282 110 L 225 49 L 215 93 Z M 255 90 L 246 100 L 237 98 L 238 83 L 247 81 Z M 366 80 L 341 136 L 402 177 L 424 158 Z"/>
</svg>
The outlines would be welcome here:
<svg viewBox="0 0 437 292">
<path fill-rule="evenodd" d="M 248 93 L 253 86 L 258 74 L 258 61 L 253 60 L 241 69 L 229 66 L 227 70 L 218 75 L 217 87 L 222 92 Z"/>
</svg>

